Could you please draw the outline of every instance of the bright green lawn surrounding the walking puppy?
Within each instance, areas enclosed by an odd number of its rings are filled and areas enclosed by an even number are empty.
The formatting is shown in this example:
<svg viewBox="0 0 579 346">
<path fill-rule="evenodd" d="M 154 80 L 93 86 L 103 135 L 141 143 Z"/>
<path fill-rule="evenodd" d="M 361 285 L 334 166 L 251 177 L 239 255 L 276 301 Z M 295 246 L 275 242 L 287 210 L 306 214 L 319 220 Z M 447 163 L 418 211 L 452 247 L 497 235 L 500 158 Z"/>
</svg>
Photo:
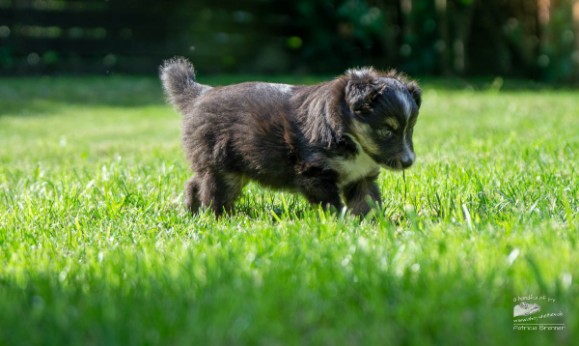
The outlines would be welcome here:
<svg viewBox="0 0 579 346">
<path fill-rule="evenodd" d="M 191 217 L 156 80 L 0 79 L 0 345 L 572 344 L 579 92 L 488 85 L 423 83 L 360 223 L 254 184 Z M 513 330 L 529 295 L 565 329 Z"/>
</svg>

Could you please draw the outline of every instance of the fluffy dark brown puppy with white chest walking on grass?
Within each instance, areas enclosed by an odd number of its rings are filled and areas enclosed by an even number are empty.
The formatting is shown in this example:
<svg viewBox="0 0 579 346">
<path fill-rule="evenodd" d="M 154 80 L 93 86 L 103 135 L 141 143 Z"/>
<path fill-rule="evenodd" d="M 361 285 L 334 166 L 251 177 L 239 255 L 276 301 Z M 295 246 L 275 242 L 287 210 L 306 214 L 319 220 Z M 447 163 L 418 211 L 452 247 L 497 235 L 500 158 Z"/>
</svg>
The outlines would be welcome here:
<svg viewBox="0 0 579 346">
<path fill-rule="evenodd" d="M 380 167 L 415 160 L 418 84 L 396 71 L 350 69 L 311 86 L 197 83 L 183 58 L 160 68 L 168 101 L 183 115 L 186 157 L 196 173 L 185 202 L 195 213 L 233 208 L 248 180 L 302 193 L 308 201 L 365 215 L 380 204 Z"/>
</svg>

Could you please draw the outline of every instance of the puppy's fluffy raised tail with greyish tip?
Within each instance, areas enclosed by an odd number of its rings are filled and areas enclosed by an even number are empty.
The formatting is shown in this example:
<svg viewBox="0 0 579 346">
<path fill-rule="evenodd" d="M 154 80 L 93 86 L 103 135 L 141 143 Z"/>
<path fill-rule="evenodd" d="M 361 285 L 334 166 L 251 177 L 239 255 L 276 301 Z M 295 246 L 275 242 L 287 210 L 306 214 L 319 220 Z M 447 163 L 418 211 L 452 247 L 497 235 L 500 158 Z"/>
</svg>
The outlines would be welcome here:
<svg viewBox="0 0 579 346">
<path fill-rule="evenodd" d="M 199 95 L 211 89 L 197 83 L 193 65 L 185 58 L 166 60 L 159 75 L 167 100 L 181 113 L 185 113 Z"/>
</svg>

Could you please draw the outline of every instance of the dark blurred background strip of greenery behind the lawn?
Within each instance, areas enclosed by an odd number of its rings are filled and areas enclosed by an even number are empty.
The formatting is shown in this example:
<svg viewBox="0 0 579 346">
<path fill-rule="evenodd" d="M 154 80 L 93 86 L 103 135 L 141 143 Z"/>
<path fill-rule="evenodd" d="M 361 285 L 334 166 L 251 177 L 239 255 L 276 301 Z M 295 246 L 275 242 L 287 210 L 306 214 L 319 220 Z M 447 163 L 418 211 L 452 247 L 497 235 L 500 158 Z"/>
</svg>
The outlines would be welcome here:
<svg viewBox="0 0 579 346">
<path fill-rule="evenodd" d="M 0 73 L 340 73 L 579 81 L 579 0 L 0 0 Z"/>
</svg>

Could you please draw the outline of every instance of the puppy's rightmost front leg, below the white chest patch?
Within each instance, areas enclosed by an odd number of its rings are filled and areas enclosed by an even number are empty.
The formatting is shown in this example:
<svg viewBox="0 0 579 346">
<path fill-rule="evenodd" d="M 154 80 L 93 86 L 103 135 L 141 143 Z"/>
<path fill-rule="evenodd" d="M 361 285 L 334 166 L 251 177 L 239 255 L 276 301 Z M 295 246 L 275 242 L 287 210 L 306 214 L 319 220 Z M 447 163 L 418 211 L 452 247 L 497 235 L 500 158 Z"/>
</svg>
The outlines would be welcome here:
<svg viewBox="0 0 579 346">
<path fill-rule="evenodd" d="M 364 216 L 370 212 L 369 201 L 376 206 L 380 205 L 380 189 L 376 184 L 377 177 L 368 177 L 347 185 L 344 188 L 344 198 L 350 212 Z"/>
</svg>

